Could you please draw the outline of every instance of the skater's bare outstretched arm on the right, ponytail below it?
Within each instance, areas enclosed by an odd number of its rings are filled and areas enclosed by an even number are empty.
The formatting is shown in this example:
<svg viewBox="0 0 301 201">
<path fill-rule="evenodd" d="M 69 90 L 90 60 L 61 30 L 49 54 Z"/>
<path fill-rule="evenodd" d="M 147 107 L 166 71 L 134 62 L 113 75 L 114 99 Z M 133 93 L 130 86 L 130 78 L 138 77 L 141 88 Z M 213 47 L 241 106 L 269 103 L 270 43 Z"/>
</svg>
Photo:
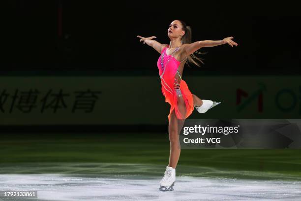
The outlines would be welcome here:
<svg viewBox="0 0 301 201">
<path fill-rule="evenodd" d="M 222 40 L 200 40 L 200 41 L 196 41 L 196 42 L 189 43 L 189 44 L 183 44 L 183 49 L 187 55 L 190 55 L 202 47 L 214 47 L 214 46 L 223 45 L 226 43 L 228 43 L 232 47 L 233 47 L 233 45 L 238 46 L 238 44 L 236 42 L 231 40 L 232 38 L 233 37 L 231 36 L 231 37 L 226 37 Z"/>
</svg>

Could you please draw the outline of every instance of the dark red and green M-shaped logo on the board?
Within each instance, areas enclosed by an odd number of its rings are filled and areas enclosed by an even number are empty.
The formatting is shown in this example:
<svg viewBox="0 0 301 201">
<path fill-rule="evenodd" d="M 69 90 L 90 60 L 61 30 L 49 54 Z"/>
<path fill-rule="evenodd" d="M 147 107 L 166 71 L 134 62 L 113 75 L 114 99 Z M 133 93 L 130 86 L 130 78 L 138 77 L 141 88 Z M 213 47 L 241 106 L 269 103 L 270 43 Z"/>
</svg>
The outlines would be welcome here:
<svg viewBox="0 0 301 201">
<path fill-rule="evenodd" d="M 236 90 L 236 105 L 237 111 L 240 112 L 247 107 L 251 102 L 257 102 L 258 112 L 263 112 L 263 92 L 266 91 L 266 85 L 258 83 L 259 87 L 257 90 L 248 93 L 240 88 Z"/>
</svg>

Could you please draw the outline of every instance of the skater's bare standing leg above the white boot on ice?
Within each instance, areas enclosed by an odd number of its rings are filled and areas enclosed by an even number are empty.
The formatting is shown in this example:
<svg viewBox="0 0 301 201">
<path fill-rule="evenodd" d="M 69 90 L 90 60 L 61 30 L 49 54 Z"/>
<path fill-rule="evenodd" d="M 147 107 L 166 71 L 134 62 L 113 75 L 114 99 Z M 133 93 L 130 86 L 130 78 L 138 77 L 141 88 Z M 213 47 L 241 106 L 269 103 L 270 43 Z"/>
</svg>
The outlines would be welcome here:
<svg viewBox="0 0 301 201">
<path fill-rule="evenodd" d="M 177 104 L 182 116 L 184 117 L 186 113 L 186 107 L 182 97 L 178 97 Z M 181 146 L 179 141 L 179 134 L 183 127 L 184 121 L 185 119 L 178 120 L 176 111 L 173 110 L 168 127 L 170 141 L 169 167 L 176 168 L 180 158 Z"/>
</svg>

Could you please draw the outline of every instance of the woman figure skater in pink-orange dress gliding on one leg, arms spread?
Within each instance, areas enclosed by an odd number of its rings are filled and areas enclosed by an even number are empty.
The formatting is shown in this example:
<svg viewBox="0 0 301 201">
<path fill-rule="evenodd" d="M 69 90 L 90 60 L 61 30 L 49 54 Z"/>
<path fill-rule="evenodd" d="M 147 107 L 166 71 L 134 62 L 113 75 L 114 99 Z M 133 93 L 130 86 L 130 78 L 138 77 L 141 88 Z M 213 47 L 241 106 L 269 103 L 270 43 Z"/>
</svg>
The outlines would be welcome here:
<svg viewBox="0 0 301 201">
<path fill-rule="evenodd" d="M 197 50 L 202 47 L 214 47 L 228 43 L 232 47 L 238 46 L 231 40 L 233 37 L 226 37 L 222 40 L 203 40 L 191 43 L 191 28 L 181 20 L 174 20 L 168 28 L 167 35 L 170 43 L 161 44 L 151 37 L 142 37 L 140 42 L 148 44 L 161 54 L 157 61 L 159 75 L 161 79 L 161 90 L 165 96 L 165 101 L 171 105 L 168 115 L 168 131 L 170 141 L 169 164 L 166 167 L 164 176 L 160 182 L 160 191 L 172 191 L 176 181 L 176 167 L 180 158 L 181 147 L 179 142 L 179 133 L 185 119 L 192 113 L 194 107 L 199 113 L 205 113 L 207 110 L 218 105 L 220 102 L 212 100 L 201 100 L 196 95 L 191 94 L 187 84 L 182 80 L 184 64 L 188 61 L 199 66 L 195 61 L 202 60 L 194 53 L 204 54 Z M 186 62 L 184 62 L 186 60 Z M 203 62 L 202 62 L 203 63 Z M 203 63 L 204 64 L 204 63 Z M 200 66 L 199 66 L 200 67 Z"/>
</svg>

